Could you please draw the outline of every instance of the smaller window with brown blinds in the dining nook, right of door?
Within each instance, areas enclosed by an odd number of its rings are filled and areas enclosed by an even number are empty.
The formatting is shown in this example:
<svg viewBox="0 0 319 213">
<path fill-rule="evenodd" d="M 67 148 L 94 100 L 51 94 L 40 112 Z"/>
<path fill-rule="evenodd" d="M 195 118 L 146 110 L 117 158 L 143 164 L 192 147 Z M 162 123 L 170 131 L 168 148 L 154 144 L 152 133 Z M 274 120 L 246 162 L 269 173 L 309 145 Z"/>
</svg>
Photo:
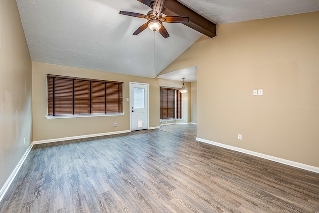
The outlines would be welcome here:
<svg viewBox="0 0 319 213">
<path fill-rule="evenodd" d="M 160 88 L 160 119 L 182 119 L 183 95 L 178 89 Z"/>
</svg>

